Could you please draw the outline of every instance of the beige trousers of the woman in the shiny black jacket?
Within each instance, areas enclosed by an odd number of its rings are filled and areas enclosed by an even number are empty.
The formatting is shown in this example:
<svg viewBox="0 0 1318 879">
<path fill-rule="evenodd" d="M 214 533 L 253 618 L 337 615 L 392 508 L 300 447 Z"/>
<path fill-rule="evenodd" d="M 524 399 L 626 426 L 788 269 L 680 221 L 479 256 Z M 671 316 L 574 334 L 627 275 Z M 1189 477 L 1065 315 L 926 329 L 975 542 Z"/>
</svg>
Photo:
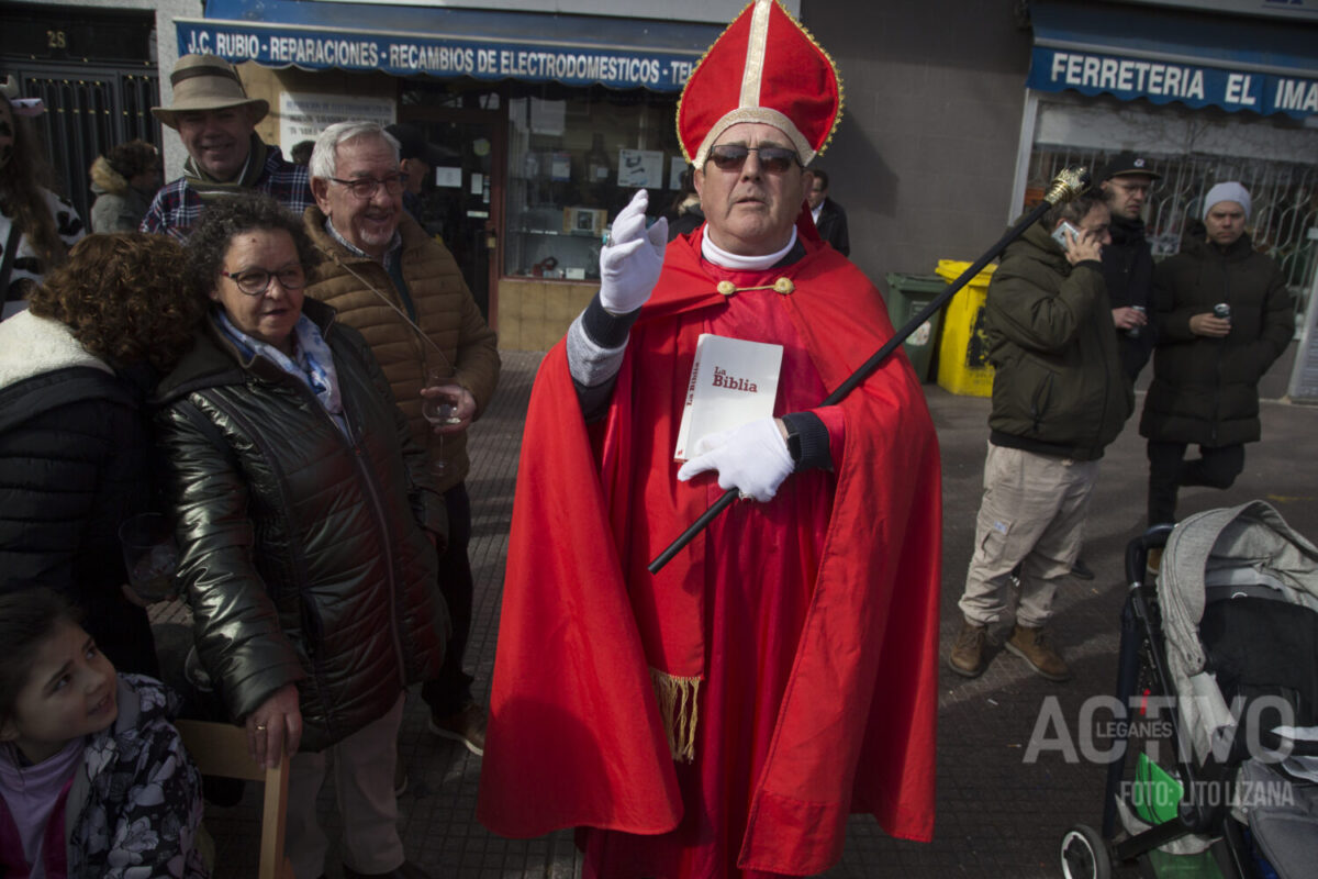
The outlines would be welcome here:
<svg viewBox="0 0 1318 879">
<path fill-rule="evenodd" d="M 326 871 L 330 841 L 316 820 L 316 799 L 332 762 L 335 801 L 343 818 L 344 862 L 357 872 L 389 872 L 403 862 L 398 837 L 394 764 L 403 696 L 377 721 L 319 754 L 297 754 L 289 763 L 289 824 L 283 850 L 297 879 Z"/>
</svg>

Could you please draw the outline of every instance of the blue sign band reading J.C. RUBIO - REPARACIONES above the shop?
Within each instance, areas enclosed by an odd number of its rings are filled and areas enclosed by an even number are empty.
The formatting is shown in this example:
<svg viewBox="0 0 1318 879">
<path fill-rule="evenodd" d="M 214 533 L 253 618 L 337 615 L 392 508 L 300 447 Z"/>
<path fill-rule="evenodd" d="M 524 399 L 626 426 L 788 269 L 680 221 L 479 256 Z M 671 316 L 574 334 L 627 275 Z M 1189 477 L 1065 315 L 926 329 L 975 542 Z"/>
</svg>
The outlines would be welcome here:
<svg viewBox="0 0 1318 879">
<path fill-rule="evenodd" d="M 681 91 L 697 57 L 633 46 L 561 46 L 447 34 L 344 32 L 175 18 L 181 53 L 268 67 L 384 71 L 399 76 L 555 80 L 569 86 Z"/>
</svg>

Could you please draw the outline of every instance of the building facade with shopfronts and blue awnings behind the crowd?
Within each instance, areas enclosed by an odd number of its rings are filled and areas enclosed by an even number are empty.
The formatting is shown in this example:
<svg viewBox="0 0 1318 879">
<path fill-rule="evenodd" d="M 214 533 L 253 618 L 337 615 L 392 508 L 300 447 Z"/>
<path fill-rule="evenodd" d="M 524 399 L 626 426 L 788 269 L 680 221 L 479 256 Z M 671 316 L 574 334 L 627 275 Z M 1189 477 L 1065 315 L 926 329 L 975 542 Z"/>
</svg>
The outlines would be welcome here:
<svg viewBox="0 0 1318 879">
<path fill-rule="evenodd" d="M 1307 289 L 1318 0 L 784 5 L 841 71 L 844 120 L 816 165 L 847 211 L 853 261 L 880 287 L 890 271 L 974 260 L 1061 166 L 1133 149 L 1164 174 L 1148 217 L 1160 256 L 1176 252 L 1207 186 L 1240 179 L 1255 194 L 1255 239 Z M 154 58 L 129 65 L 150 76 L 186 51 L 228 58 L 270 101 L 258 130 L 286 153 L 339 119 L 420 125 L 449 156 L 427 182 L 426 227 L 459 257 L 501 344 L 543 349 L 593 294 L 600 236 L 635 187 L 650 190 L 655 213 L 679 195 L 681 84 L 742 7 L 670 0 L 663 21 L 639 0 L 17 8 L 40 13 L 38 25 L 136 16 L 154 28 Z M 20 43 L 5 28 L 7 69 L 67 61 L 76 74 L 79 58 L 113 54 L 91 33 L 66 58 L 37 57 L 26 49 L 42 28 L 28 29 Z M 167 100 L 167 82 L 159 90 Z M 66 100 L 51 94 L 51 104 Z M 66 163 L 72 190 L 86 187 L 78 162 L 95 156 L 79 146 L 82 127 L 49 128 L 53 156 L 76 154 Z M 132 130 L 159 142 L 149 119 Z M 173 177 L 182 148 L 173 136 L 163 146 Z"/>
</svg>

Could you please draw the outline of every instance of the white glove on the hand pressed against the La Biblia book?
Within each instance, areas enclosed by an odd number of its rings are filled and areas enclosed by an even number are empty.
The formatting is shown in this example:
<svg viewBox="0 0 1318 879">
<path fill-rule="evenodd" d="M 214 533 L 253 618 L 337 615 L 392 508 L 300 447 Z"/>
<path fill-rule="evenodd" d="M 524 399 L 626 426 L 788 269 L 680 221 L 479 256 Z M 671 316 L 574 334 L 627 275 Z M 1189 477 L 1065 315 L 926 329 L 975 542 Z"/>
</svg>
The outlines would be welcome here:
<svg viewBox="0 0 1318 879">
<path fill-rule="evenodd" d="M 681 465 L 679 480 L 718 470 L 718 488 L 737 489 L 760 503 L 774 499 L 778 486 L 796 469 L 778 422 L 768 416 L 701 436 L 693 451 L 696 457 Z"/>
</svg>

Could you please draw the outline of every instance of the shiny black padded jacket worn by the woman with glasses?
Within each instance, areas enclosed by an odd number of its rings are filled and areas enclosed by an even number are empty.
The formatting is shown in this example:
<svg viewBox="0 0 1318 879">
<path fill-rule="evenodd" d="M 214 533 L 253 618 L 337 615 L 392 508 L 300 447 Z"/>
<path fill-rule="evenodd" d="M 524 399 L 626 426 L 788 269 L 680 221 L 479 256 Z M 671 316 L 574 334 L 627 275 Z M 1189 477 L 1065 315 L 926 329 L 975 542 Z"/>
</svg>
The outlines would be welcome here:
<svg viewBox="0 0 1318 879">
<path fill-rule="evenodd" d="M 361 335 L 307 299 L 351 440 L 311 390 L 214 326 L 161 383 L 159 444 L 179 517 L 179 576 L 203 664 L 235 718 L 298 683 L 303 747 L 380 718 L 439 669 L 447 521 L 424 453 Z"/>
</svg>

